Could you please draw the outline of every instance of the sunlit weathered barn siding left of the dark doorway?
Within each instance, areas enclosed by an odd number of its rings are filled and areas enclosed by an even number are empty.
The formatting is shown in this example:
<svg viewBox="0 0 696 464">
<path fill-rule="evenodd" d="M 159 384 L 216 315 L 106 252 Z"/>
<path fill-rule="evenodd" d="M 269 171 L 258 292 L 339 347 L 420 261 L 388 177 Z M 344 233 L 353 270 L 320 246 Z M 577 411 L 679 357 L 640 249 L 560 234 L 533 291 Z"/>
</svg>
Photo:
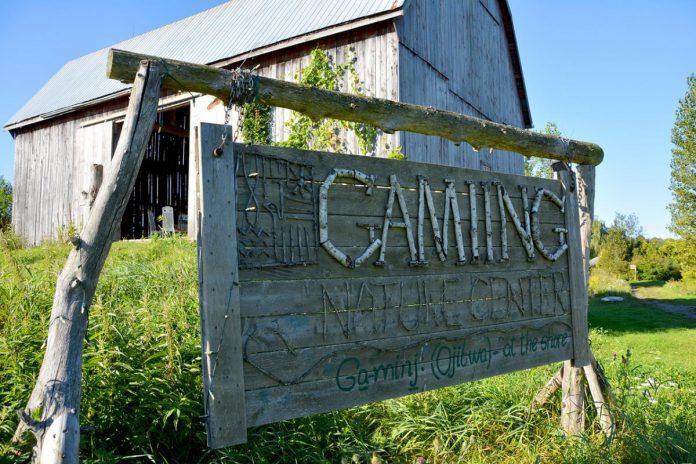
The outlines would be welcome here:
<svg viewBox="0 0 696 464">
<path fill-rule="evenodd" d="M 71 225 L 79 231 L 85 223 L 91 165 L 108 165 L 112 123 L 82 126 L 126 104 L 118 99 L 16 133 L 12 224 L 28 244 L 54 240 Z"/>
</svg>

